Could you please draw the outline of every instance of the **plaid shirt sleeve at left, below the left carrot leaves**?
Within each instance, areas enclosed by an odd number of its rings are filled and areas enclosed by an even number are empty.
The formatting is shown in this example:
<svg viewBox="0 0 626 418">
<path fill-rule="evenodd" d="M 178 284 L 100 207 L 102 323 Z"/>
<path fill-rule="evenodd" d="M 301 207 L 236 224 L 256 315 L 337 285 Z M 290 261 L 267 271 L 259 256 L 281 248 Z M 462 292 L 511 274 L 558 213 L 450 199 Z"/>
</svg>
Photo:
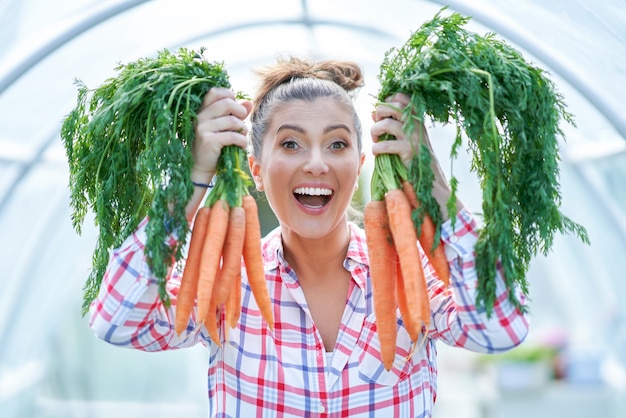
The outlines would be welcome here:
<svg viewBox="0 0 626 418">
<path fill-rule="evenodd" d="M 202 340 L 192 320 L 181 336 L 174 331 L 176 295 L 180 287 L 178 269 L 170 271 L 167 292 L 171 304 L 159 298 L 157 278 L 144 253 L 147 219 L 122 245 L 113 250 L 100 291 L 90 305 L 90 326 L 96 336 L 111 344 L 145 351 L 182 348 Z M 170 237 L 173 243 L 174 238 Z"/>
</svg>

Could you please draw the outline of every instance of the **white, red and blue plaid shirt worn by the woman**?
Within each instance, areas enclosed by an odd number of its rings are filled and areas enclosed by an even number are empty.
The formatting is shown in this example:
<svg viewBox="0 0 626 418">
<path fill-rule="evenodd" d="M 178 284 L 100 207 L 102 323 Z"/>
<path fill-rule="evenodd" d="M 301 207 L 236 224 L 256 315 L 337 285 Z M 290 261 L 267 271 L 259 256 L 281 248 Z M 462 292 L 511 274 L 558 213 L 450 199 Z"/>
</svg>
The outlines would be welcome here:
<svg viewBox="0 0 626 418">
<path fill-rule="evenodd" d="M 365 236 L 350 224 L 352 237 L 344 260 L 352 280 L 335 349 L 327 353 L 295 272 L 284 259 L 280 231 L 263 241 L 265 276 L 274 306 L 275 330 L 262 320 L 242 272 L 242 312 L 235 329 L 220 325 L 222 346 L 195 326 L 180 337 L 173 309 L 158 298 L 155 279 L 144 261 L 145 222 L 113 252 L 99 297 L 91 307 L 91 326 L 107 342 L 158 351 L 204 344 L 209 352 L 208 398 L 211 417 L 429 417 L 437 392 L 436 341 L 482 353 L 520 344 L 526 317 L 508 301 L 498 272 L 497 303 L 487 318 L 475 308 L 476 225 L 463 210 L 456 230 L 450 221 L 442 240 L 450 263 L 450 285 L 438 280 L 422 252 L 431 300 L 431 326 L 425 343 L 414 345 L 398 315 L 393 368 L 381 363 L 372 306 Z M 180 275 L 168 282 L 172 307 Z"/>
</svg>

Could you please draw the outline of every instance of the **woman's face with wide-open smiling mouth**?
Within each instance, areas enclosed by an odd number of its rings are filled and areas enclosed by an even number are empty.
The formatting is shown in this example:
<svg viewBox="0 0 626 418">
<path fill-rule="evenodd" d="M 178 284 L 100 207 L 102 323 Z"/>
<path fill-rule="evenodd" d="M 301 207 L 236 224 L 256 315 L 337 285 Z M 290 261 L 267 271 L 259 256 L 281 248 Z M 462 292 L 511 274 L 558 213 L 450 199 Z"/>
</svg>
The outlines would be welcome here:
<svg viewBox="0 0 626 418">
<path fill-rule="evenodd" d="M 364 159 L 353 125 L 330 98 L 276 109 L 250 169 L 283 230 L 315 239 L 345 222 Z"/>
</svg>

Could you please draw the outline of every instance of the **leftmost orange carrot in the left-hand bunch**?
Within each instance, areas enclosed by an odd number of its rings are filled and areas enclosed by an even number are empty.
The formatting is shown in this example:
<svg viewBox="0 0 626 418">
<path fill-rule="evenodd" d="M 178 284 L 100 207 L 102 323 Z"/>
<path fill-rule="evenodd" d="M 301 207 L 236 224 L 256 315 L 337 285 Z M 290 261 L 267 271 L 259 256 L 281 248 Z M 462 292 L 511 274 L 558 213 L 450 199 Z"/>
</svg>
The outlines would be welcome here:
<svg viewBox="0 0 626 418">
<path fill-rule="evenodd" d="M 189 241 L 189 251 L 183 276 L 181 278 L 180 289 L 176 296 L 176 320 L 174 329 L 177 334 L 181 334 L 187 327 L 189 316 L 196 301 L 198 289 L 198 275 L 200 272 L 200 260 L 202 257 L 202 246 L 204 245 L 207 224 L 209 221 L 208 207 L 202 207 L 196 214 Z"/>
</svg>

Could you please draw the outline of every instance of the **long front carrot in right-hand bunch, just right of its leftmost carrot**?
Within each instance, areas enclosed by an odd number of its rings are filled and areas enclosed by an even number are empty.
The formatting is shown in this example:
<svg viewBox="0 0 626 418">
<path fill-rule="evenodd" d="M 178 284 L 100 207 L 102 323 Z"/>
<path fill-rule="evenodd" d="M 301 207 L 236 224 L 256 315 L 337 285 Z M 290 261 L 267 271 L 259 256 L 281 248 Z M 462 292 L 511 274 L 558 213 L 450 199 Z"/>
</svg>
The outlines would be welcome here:
<svg viewBox="0 0 626 418">
<path fill-rule="evenodd" d="M 414 324 L 430 324 L 428 288 L 422 268 L 422 258 L 417 247 L 417 233 L 411 219 L 411 205 L 401 189 L 385 194 L 389 227 L 398 253 L 404 279 L 404 291 L 411 303 L 409 320 Z"/>
</svg>

